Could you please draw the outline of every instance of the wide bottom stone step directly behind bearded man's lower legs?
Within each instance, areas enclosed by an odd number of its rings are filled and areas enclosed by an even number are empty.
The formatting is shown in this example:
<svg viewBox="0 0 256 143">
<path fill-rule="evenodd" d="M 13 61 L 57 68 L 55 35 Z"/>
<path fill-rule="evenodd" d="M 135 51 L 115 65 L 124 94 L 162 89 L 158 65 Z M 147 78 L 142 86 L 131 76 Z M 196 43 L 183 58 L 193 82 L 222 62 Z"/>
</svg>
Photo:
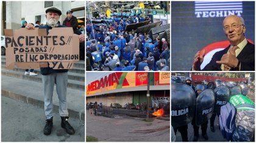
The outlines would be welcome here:
<svg viewBox="0 0 256 143">
<path fill-rule="evenodd" d="M 41 82 L 1 76 L 1 84 L 2 96 L 44 108 L 43 84 Z M 67 88 L 66 94 L 69 117 L 85 121 L 85 92 Z M 52 99 L 54 111 L 59 113 L 59 99 L 55 88 Z"/>
</svg>

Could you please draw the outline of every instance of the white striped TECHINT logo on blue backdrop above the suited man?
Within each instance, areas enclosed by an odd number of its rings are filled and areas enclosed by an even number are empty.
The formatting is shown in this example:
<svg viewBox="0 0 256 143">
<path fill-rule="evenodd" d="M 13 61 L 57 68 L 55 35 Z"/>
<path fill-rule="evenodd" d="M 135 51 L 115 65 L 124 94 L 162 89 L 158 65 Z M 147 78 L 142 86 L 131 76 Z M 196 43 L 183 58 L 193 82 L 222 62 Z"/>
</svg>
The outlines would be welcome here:
<svg viewBox="0 0 256 143">
<path fill-rule="evenodd" d="M 221 18 L 229 15 L 241 16 L 243 2 L 241 1 L 196 1 L 194 14 L 196 18 Z"/>
</svg>

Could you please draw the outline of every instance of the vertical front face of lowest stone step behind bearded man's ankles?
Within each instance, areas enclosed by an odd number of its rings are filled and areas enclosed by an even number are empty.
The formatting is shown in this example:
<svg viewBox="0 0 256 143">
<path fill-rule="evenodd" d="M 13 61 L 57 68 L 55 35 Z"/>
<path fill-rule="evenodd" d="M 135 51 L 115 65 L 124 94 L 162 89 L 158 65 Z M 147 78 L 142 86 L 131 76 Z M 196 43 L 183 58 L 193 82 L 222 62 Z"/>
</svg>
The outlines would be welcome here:
<svg viewBox="0 0 256 143">
<path fill-rule="evenodd" d="M 12 98 L 21 102 L 25 102 L 27 104 L 37 105 L 38 107 L 44 108 L 44 101 L 40 101 L 38 99 L 30 98 L 24 95 L 20 95 L 19 93 L 14 93 L 12 91 L 1 90 L 1 95 L 7 98 Z M 53 110 L 55 113 L 59 113 L 59 105 L 53 105 Z M 74 111 L 68 109 L 68 115 L 71 118 L 77 118 L 80 121 L 85 121 L 85 109 L 82 108 L 79 111 Z"/>
</svg>

